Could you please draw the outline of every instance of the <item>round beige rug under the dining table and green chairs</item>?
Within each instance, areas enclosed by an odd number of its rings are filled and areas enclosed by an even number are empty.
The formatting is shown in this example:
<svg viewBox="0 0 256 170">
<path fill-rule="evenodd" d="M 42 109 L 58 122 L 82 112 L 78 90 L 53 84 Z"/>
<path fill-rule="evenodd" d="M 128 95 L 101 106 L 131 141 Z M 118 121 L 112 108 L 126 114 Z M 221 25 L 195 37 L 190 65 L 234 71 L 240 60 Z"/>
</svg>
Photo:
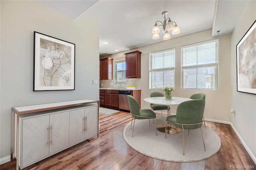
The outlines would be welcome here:
<svg viewBox="0 0 256 170">
<path fill-rule="evenodd" d="M 166 117 L 161 115 L 156 116 L 157 125 L 165 123 Z M 207 159 L 220 150 L 220 137 L 214 130 L 209 127 L 202 126 L 204 134 L 204 142 L 206 151 L 201 136 L 200 128 L 184 131 L 185 155 L 182 151 L 182 131 L 178 134 L 165 134 L 157 131 L 156 126 L 152 123 L 149 126 L 148 119 L 136 120 L 134 134 L 132 138 L 131 125 L 128 123 L 124 128 L 124 139 L 129 146 L 134 150 L 152 158 L 171 162 L 194 162 Z"/>
</svg>

